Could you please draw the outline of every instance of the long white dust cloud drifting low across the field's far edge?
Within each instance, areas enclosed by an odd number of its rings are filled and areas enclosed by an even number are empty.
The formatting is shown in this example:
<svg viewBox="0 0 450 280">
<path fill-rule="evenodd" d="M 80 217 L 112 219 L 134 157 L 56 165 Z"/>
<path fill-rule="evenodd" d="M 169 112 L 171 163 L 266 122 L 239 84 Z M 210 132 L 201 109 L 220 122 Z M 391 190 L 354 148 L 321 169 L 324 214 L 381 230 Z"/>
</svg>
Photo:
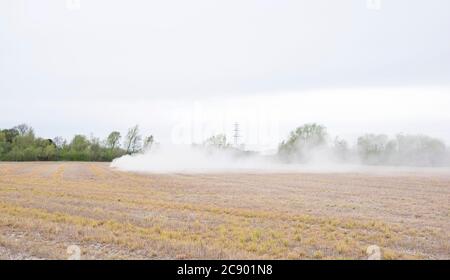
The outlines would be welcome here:
<svg viewBox="0 0 450 280">
<path fill-rule="evenodd" d="M 150 173 L 211 173 L 211 172 L 416 172 L 450 173 L 445 166 L 404 164 L 364 164 L 357 151 L 349 150 L 345 158 L 336 155 L 332 147 L 308 150 L 303 161 L 286 161 L 279 155 L 261 155 L 234 148 L 190 145 L 161 145 L 144 153 L 115 159 L 111 167 L 122 171 Z"/>
</svg>

